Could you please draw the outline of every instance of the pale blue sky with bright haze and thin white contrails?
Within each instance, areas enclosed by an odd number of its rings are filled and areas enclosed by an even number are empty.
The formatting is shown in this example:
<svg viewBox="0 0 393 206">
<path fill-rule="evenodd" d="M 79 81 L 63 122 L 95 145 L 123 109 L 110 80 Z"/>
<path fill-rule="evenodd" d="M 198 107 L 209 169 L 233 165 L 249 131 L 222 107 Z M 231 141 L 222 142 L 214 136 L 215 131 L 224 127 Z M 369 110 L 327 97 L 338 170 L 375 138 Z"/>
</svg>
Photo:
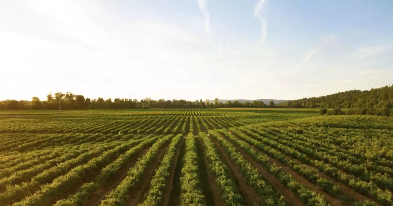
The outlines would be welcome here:
<svg viewBox="0 0 393 206">
<path fill-rule="evenodd" d="M 0 99 L 298 99 L 393 83 L 393 1 L 2 0 Z"/>
</svg>

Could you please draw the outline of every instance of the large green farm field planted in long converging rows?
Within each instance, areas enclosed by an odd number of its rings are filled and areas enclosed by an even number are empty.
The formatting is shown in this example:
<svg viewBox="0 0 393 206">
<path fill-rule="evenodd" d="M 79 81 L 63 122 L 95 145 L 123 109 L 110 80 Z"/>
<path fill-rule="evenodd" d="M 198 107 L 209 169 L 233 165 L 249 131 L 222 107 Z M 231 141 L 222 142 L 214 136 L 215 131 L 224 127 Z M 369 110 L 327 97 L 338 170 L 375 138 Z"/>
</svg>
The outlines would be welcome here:
<svg viewBox="0 0 393 206">
<path fill-rule="evenodd" d="M 0 205 L 393 205 L 393 118 L 0 111 Z"/>
</svg>

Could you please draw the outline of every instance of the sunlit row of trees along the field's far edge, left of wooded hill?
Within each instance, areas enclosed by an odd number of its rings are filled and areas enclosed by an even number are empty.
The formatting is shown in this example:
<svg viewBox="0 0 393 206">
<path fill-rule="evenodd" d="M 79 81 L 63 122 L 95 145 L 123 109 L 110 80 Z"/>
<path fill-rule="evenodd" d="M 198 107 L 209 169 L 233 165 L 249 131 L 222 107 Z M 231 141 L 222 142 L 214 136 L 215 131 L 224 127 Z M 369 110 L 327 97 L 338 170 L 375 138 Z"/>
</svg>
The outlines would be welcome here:
<svg viewBox="0 0 393 206">
<path fill-rule="evenodd" d="M 274 107 L 274 102 L 265 104 L 262 101 L 254 100 L 252 102 L 221 102 L 218 98 L 214 102 L 206 100 L 152 100 L 145 99 L 128 99 L 128 98 L 108 98 L 104 100 L 85 98 L 83 95 L 74 95 L 73 93 L 55 93 L 46 96 L 46 100 L 40 100 L 38 97 L 28 100 L 3 100 L 0 101 L 0 109 L 149 109 L 149 108 L 263 108 Z"/>
</svg>

